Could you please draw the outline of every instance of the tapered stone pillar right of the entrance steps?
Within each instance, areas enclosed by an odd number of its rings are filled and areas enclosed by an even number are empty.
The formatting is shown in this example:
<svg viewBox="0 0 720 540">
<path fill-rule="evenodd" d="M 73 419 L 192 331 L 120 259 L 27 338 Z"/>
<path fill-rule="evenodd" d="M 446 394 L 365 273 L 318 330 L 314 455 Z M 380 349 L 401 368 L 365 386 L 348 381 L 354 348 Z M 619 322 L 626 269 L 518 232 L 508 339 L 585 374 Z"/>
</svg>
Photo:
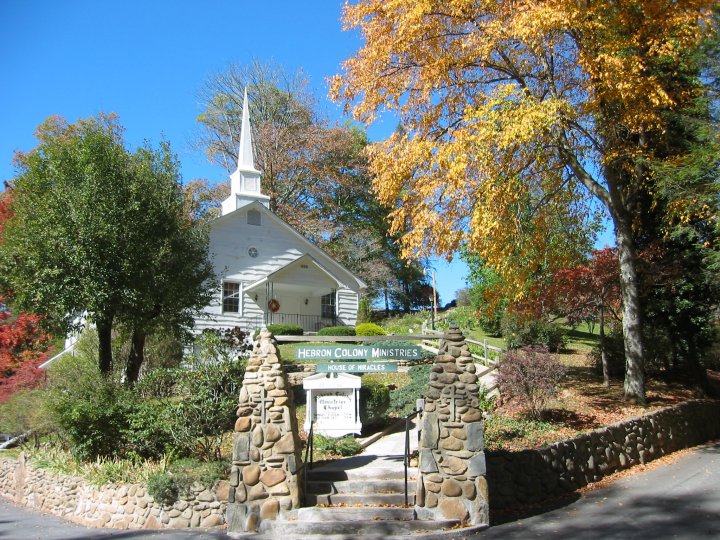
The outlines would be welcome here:
<svg viewBox="0 0 720 540">
<path fill-rule="evenodd" d="M 489 524 L 479 385 L 465 337 L 443 336 L 432 365 L 420 436 L 418 519 Z"/>
</svg>

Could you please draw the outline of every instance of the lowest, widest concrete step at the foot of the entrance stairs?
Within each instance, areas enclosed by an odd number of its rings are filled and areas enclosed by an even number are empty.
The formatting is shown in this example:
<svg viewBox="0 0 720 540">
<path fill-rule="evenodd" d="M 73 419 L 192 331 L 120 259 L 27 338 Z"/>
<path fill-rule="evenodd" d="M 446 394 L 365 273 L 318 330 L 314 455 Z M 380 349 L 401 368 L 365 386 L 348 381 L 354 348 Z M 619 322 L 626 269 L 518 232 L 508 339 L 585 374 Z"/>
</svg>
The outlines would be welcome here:
<svg viewBox="0 0 720 540">
<path fill-rule="evenodd" d="M 308 535 L 327 537 L 330 535 L 355 535 L 366 538 L 370 535 L 395 536 L 407 535 L 421 531 L 441 531 L 457 527 L 458 522 L 446 521 L 399 521 L 399 520 L 353 520 L 353 521 L 263 521 L 261 534 L 271 534 L 275 538 L 306 538 Z"/>
</svg>

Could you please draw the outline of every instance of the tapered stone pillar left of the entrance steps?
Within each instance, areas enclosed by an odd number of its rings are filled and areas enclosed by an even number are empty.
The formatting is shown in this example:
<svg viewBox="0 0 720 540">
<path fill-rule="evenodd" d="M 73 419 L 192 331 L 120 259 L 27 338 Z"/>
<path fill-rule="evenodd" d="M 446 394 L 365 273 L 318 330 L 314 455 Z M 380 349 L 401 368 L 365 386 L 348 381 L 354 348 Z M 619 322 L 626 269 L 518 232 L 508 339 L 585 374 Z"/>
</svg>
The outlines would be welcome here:
<svg viewBox="0 0 720 540">
<path fill-rule="evenodd" d="M 260 332 L 240 389 L 230 471 L 228 532 L 256 531 L 300 507 L 300 437 L 292 388 L 273 335 Z"/>
</svg>

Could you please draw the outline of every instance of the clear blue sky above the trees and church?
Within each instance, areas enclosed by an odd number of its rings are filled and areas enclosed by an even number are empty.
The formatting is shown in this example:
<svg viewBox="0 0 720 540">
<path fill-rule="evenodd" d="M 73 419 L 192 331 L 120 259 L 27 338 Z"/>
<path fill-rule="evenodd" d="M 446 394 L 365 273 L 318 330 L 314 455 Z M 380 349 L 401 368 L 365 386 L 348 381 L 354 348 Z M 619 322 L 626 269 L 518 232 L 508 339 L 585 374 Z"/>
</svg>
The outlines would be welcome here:
<svg viewBox="0 0 720 540">
<path fill-rule="evenodd" d="M 115 112 L 126 139 L 167 138 L 185 180 L 227 178 L 192 149 L 203 82 L 230 64 L 272 61 L 302 69 L 330 118 L 326 78 L 360 47 L 344 32 L 340 0 L 0 1 L 0 181 L 13 177 L 14 150 L 29 150 L 48 116 L 69 121 Z M 371 140 L 395 120 L 375 122 Z M 441 301 L 464 286 L 465 265 L 435 262 Z"/>
</svg>

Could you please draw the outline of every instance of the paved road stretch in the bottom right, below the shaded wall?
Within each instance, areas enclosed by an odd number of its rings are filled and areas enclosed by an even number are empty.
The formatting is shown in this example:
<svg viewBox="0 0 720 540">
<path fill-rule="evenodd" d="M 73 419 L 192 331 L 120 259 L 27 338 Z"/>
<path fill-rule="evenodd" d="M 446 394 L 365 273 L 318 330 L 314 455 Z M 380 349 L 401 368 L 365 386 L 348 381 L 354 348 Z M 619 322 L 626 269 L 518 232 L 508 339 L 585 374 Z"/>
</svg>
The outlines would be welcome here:
<svg viewBox="0 0 720 540">
<path fill-rule="evenodd" d="M 720 442 L 590 491 L 563 508 L 491 527 L 473 538 L 720 538 Z"/>
</svg>

